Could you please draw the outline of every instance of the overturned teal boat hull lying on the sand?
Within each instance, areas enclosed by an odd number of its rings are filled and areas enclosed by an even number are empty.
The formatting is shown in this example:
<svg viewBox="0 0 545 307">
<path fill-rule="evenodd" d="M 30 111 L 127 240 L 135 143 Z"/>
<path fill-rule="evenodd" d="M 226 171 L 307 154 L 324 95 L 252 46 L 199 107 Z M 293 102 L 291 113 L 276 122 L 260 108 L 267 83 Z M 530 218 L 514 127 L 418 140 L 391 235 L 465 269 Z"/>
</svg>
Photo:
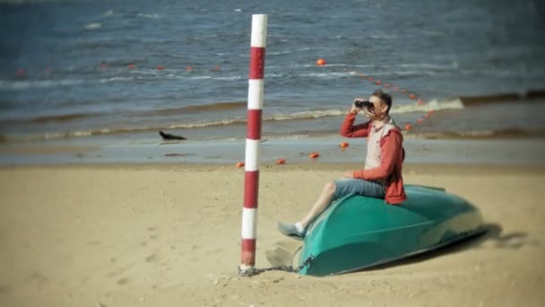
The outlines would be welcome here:
<svg viewBox="0 0 545 307">
<path fill-rule="evenodd" d="M 405 186 L 407 200 L 350 195 L 329 206 L 307 229 L 299 273 L 326 276 L 371 268 L 486 232 L 475 206 L 444 189 Z"/>
</svg>

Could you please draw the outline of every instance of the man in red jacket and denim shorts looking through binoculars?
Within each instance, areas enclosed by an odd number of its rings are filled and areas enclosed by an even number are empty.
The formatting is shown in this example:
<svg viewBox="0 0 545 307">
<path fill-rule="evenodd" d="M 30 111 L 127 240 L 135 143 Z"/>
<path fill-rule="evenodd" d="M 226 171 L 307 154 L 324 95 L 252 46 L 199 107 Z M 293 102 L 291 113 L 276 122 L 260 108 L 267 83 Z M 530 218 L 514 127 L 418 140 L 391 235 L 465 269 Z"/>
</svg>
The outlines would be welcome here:
<svg viewBox="0 0 545 307">
<path fill-rule="evenodd" d="M 362 107 L 362 104 L 367 107 Z M 326 183 L 322 195 L 318 197 L 308 214 L 295 224 L 279 223 L 279 232 L 302 239 L 308 225 L 333 200 L 349 194 L 385 198 L 385 203 L 391 205 L 400 204 L 407 199 L 402 180 L 402 162 L 405 156 L 402 147 L 403 136 L 400 128 L 396 127 L 394 120 L 388 116 L 391 108 L 392 97 L 380 90 L 373 92 L 369 101 L 364 102 L 360 98 L 354 101 L 342 123 L 341 135 L 368 138 L 364 169 L 347 171 L 344 173 L 344 179 Z M 359 111 L 363 111 L 369 120 L 364 124 L 354 125 Z"/>
</svg>

